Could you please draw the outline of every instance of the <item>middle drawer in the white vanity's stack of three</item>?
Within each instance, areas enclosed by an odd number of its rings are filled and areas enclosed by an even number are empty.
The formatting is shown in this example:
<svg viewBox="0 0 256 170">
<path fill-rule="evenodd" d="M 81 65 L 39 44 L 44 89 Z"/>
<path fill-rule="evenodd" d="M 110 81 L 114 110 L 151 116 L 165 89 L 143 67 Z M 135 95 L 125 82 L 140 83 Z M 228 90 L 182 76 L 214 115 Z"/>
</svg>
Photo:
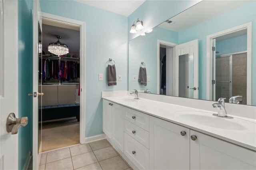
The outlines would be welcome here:
<svg viewBox="0 0 256 170">
<path fill-rule="evenodd" d="M 132 136 L 135 140 L 149 148 L 149 132 L 124 120 L 124 132 Z"/>
</svg>

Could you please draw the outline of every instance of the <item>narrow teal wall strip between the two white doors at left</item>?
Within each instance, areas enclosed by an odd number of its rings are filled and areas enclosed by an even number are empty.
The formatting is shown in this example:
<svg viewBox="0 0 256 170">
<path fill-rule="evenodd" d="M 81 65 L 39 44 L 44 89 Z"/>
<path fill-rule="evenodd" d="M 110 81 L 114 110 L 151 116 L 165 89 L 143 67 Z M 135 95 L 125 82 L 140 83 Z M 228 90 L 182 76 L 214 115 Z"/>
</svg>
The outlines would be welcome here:
<svg viewBox="0 0 256 170">
<path fill-rule="evenodd" d="M 28 125 L 18 132 L 18 168 L 32 150 L 32 0 L 18 1 L 18 114 L 28 117 Z"/>
</svg>

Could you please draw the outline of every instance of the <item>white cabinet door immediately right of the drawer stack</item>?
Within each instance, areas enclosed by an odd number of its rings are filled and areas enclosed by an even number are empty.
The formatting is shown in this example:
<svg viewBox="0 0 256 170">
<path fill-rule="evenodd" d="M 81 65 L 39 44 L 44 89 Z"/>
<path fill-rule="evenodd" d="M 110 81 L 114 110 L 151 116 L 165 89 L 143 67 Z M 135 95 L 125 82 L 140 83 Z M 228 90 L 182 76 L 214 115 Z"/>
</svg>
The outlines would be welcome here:
<svg viewBox="0 0 256 170">
<path fill-rule="evenodd" d="M 189 129 L 152 116 L 149 127 L 150 169 L 188 170 Z M 184 136 L 182 131 L 186 132 Z"/>
</svg>

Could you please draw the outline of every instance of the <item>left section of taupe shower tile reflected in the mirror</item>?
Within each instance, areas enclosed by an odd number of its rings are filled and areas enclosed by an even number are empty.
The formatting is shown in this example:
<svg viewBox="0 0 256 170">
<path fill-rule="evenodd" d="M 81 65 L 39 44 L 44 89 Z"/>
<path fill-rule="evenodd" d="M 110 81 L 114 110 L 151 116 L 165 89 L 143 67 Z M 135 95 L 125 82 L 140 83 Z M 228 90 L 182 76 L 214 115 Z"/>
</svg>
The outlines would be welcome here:
<svg viewBox="0 0 256 170">
<path fill-rule="evenodd" d="M 215 99 L 220 97 L 226 98 L 226 102 L 230 97 L 230 57 L 216 58 L 216 93 Z"/>
</svg>

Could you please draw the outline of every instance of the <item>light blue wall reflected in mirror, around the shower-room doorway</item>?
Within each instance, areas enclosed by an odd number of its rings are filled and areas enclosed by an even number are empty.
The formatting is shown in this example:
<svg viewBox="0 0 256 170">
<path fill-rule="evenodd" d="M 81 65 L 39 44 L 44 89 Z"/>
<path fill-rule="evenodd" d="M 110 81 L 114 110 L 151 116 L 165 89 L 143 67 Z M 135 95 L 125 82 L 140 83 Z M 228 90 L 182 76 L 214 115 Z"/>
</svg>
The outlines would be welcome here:
<svg viewBox="0 0 256 170">
<path fill-rule="evenodd" d="M 256 2 L 179 32 L 179 43 L 199 41 L 199 98 L 206 99 L 206 36 L 252 22 L 252 105 L 256 105 Z M 228 18 L 228 19 L 227 19 Z"/>
</svg>

